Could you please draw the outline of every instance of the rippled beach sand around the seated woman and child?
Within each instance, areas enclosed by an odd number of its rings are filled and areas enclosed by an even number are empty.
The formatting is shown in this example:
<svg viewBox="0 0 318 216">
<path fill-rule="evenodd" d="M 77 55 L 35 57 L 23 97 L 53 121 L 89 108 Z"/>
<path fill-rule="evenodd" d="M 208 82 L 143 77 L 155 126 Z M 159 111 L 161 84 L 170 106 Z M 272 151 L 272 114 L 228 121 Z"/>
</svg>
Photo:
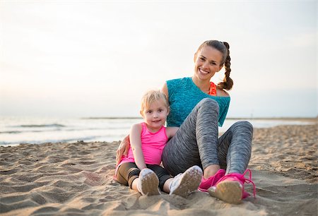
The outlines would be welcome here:
<svg viewBox="0 0 318 216">
<path fill-rule="evenodd" d="M 254 129 L 257 197 L 141 196 L 112 179 L 113 143 L 0 147 L 1 215 L 317 215 L 317 124 Z M 252 193 L 252 187 L 246 186 Z"/>
</svg>

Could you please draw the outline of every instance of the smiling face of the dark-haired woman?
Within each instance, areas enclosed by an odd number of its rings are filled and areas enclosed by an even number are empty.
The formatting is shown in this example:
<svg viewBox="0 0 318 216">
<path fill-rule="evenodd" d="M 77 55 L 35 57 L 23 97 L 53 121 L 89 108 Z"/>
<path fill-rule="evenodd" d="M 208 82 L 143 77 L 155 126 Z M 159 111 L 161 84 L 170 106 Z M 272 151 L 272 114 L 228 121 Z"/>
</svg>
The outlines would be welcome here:
<svg viewBox="0 0 318 216">
<path fill-rule="evenodd" d="M 213 47 L 204 46 L 194 54 L 194 78 L 208 80 L 223 67 L 222 53 Z"/>
</svg>

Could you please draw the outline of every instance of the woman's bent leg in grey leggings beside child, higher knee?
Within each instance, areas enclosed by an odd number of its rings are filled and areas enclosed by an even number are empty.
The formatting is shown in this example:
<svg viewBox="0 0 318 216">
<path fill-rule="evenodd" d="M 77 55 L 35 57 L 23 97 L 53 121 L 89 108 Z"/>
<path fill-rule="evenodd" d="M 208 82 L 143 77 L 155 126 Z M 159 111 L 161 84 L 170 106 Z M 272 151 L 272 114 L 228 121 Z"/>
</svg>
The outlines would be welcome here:
<svg viewBox="0 0 318 216">
<path fill-rule="evenodd" d="M 163 165 L 173 176 L 189 167 L 218 165 L 218 102 L 201 100 L 163 149 Z M 205 171 L 204 171 L 205 172 Z"/>
</svg>

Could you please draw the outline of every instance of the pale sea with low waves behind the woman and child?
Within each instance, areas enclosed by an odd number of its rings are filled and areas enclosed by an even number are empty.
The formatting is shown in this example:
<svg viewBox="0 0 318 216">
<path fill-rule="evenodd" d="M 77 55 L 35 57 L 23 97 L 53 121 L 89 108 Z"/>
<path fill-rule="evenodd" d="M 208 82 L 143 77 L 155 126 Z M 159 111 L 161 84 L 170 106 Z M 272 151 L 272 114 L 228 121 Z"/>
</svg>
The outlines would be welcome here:
<svg viewBox="0 0 318 216">
<path fill-rule="evenodd" d="M 129 126 L 137 121 L 137 119 L 125 119 L 122 121 L 120 118 L 110 119 L 105 118 L 104 121 L 100 118 L 88 119 L 90 121 L 89 126 L 83 127 L 83 122 L 72 121 L 67 119 L 66 122 L 56 119 L 55 121 L 45 122 L 33 122 L 30 123 L 16 123 L 16 125 L 4 127 L 4 131 L 0 131 L 2 140 L 0 146 L 17 146 L 23 143 L 36 143 L 41 145 L 42 143 L 73 143 L 78 140 L 85 142 L 112 142 L 119 141 L 129 131 Z M 101 120 L 100 122 L 94 123 L 95 120 Z M 109 120 L 109 121 L 108 121 Z M 142 119 L 140 119 L 141 121 Z M 115 123 L 113 121 L 116 121 Z M 254 118 L 254 119 L 240 119 L 240 118 L 228 118 L 224 122 L 222 127 L 219 127 L 219 136 L 222 135 L 232 124 L 236 121 L 249 121 L 254 128 L 269 128 L 279 125 L 312 125 L 317 124 L 317 118 Z M 114 126 L 110 126 L 113 124 Z M 124 126 L 124 127 L 123 127 Z M 12 129 L 13 127 L 13 129 Z M 76 128 L 77 127 L 77 128 Z M 100 128 L 103 127 L 103 128 Z M 28 129 L 25 129 L 28 128 Z M 101 131 L 101 129 L 103 131 Z M 85 135 L 81 133 L 85 132 Z M 37 133 L 35 133 L 37 132 Z M 95 136 L 95 138 L 94 138 Z"/>
</svg>

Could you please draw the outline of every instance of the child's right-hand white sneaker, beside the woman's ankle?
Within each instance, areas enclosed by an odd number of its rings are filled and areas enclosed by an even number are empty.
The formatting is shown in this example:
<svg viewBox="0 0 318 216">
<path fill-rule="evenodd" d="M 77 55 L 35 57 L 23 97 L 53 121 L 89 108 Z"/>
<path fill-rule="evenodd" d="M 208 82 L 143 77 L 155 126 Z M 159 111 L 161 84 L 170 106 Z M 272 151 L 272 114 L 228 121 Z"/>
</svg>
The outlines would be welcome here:
<svg viewBox="0 0 318 216">
<path fill-rule="evenodd" d="M 178 174 L 169 186 L 169 194 L 175 194 L 182 197 L 188 196 L 199 188 L 202 174 L 202 169 L 198 166 L 190 167 L 183 174 Z"/>
</svg>

